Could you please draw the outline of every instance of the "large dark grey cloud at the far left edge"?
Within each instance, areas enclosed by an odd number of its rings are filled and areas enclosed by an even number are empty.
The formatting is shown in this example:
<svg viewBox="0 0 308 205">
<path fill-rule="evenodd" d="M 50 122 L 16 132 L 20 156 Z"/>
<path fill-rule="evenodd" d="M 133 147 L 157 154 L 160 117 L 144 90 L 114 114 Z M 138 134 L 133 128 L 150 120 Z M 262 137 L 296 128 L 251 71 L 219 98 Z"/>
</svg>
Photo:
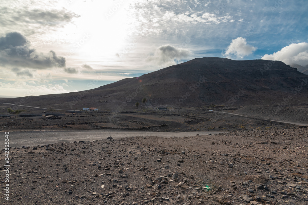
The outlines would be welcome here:
<svg viewBox="0 0 308 205">
<path fill-rule="evenodd" d="M 65 67 L 65 58 L 54 51 L 47 55 L 30 48 L 30 42 L 18 32 L 7 33 L 0 37 L 0 65 L 23 68 L 46 69 Z"/>
</svg>

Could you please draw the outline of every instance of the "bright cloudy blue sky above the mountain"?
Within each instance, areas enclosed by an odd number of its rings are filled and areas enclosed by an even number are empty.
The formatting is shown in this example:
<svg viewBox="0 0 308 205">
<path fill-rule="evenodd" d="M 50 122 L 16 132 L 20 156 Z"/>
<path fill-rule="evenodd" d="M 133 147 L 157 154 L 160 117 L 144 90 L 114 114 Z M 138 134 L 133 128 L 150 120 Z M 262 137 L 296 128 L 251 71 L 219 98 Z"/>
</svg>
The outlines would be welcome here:
<svg viewBox="0 0 308 205">
<path fill-rule="evenodd" d="M 0 97 L 88 90 L 197 57 L 308 65 L 305 0 L 2 0 Z"/>
</svg>

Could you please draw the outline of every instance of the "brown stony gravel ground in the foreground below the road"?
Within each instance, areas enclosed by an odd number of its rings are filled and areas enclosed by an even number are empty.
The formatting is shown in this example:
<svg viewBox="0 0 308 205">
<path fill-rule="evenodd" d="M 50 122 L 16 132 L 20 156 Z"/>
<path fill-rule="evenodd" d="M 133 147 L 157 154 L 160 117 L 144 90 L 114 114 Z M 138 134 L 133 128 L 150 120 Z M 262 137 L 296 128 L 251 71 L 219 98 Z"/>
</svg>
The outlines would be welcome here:
<svg viewBox="0 0 308 205">
<path fill-rule="evenodd" d="M 10 201 L 4 199 L 3 166 L 0 201 L 308 204 L 307 131 L 128 137 L 10 148 Z"/>
</svg>

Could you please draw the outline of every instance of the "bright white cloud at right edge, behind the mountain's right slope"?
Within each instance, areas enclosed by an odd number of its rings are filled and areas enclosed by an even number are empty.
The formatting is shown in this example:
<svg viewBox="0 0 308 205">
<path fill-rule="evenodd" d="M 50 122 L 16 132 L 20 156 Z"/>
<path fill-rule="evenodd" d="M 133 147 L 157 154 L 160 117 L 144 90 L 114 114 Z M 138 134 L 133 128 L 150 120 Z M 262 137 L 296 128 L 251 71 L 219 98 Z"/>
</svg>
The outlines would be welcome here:
<svg viewBox="0 0 308 205">
<path fill-rule="evenodd" d="M 261 59 L 280 60 L 287 65 L 308 65 L 308 43 L 292 43 L 273 54 L 265 54 Z"/>
</svg>

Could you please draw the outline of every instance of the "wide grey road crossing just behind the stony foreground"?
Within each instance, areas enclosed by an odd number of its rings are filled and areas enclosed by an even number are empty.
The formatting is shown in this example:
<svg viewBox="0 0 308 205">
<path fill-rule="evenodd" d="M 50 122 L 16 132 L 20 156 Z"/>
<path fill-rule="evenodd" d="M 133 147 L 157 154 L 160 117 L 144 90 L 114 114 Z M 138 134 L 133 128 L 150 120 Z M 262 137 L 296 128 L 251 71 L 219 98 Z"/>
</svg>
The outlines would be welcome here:
<svg viewBox="0 0 308 205">
<path fill-rule="evenodd" d="M 3 143 L 0 143 L 0 148 L 4 148 L 4 133 L 6 130 L 0 131 L 0 139 L 3 139 Z M 22 146 L 36 146 L 47 145 L 63 142 L 73 141 L 95 141 L 106 139 L 107 137 L 121 138 L 121 137 L 133 137 L 133 136 L 158 136 L 158 137 L 184 137 L 184 136 L 196 136 L 208 135 L 209 133 L 217 134 L 223 132 L 145 132 L 145 131 L 122 131 L 122 130 L 48 130 L 48 131 L 9 131 L 10 147 L 22 147 Z"/>
</svg>

